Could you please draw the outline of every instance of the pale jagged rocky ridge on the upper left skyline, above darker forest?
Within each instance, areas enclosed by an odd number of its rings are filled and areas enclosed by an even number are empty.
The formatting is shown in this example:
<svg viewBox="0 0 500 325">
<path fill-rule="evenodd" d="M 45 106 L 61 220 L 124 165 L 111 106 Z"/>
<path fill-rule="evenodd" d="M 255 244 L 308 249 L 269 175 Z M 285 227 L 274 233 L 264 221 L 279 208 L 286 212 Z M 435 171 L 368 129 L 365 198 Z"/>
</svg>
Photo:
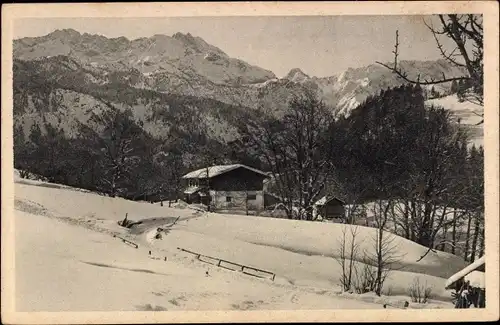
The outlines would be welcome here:
<svg viewBox="0 0 500 325">
<path fill-rule="evenodd" d="M 43 37 L 14 41 L 14 57 L 20 60 L 58 55 L 106 71 L 138 70 L 145 79 L 151 79 L 150 82 L 155 81 L 151 76 L 169 76 L 179 79 L 175 82 L 188 78 L 230 85 L 258 83 L 275 77 L 270 71 L 230 58 L 219 48 L 189 33 L 176 33 L 171 37 L 154 35 L 130 41 L 125 37 L 106 38 L 64 29 Z M 158 84 L 150 86 L 161 89 Z"/>
</svg>

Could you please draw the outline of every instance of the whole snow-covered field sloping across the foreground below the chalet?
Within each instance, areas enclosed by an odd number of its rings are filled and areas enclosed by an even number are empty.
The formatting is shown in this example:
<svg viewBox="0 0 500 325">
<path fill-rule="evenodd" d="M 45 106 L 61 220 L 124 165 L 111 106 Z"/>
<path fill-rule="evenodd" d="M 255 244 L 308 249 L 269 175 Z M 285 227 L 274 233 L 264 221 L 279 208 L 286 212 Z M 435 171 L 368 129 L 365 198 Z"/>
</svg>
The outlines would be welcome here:
<svg viewBox="0 0 500 325">
<path fill-rule="evenodd" d="M 345 225 L 207 214 L 18 177 L 15 209 L 17 311 L 380 309 L 410 301 L 415 277 L 432 287 L 433 299 L 410 308 L 453 308 L 444 285 L 465 266 L 441 252 L 416 262 L 426 249 L 398 237 L 401 269 L 386 281 L 390 296 L 341 293 L 334 256 Z M 117 224 L 125 214 L 145 221 L 130 231 Z M 363 248 L 371 249 L 373 231 L 359 227 Z M 268 270 L 276 279 L 218 268 L 178 247 Z"/>
</svg>

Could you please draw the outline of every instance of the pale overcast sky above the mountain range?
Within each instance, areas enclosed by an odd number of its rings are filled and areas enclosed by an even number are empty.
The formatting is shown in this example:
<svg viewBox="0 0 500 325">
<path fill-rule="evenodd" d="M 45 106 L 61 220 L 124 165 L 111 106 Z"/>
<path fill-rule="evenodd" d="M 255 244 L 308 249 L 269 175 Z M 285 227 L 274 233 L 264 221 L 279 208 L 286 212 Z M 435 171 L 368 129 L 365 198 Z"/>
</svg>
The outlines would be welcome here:
<svg viewBox="0 0 500 325">
<path fill-rule="evenodd" d="M 14 38 L 42 36 L 56 29 L 128 39 L 191 33 L 229 56 L 282 77 L 292 68 L 331 76 L 375 61 L 392 61 L 399 29 L 400 59 L 439 58 L 430 16 L 289 16 L 171 18 L 44 18 L 14 23 Z"/>
</svg>

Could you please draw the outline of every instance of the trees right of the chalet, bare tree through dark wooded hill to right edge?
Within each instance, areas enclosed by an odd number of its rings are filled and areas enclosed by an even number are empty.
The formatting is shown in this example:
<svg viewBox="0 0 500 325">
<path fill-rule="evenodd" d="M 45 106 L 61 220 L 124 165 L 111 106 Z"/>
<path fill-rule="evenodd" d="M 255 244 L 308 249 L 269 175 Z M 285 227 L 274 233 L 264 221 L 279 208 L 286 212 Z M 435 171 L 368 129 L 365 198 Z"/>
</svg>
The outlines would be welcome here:
<svg viewBox="0 0 500 325">
<path fill-rule="evenodd" d="M 386 207 L 383 228 L 429 249 L 448 242 L 465 211 L 481 224 L 482 148 L 468 149 L 467 129 L 451 112 L 426 107 L 419 85 L 384 90 L 338 119 L 306 94 L 283 119 L 245 123 L 241 132 L 271 170 L 289 218 L 312 220 L 325 194 L 377 202 Z"/>
</svg>

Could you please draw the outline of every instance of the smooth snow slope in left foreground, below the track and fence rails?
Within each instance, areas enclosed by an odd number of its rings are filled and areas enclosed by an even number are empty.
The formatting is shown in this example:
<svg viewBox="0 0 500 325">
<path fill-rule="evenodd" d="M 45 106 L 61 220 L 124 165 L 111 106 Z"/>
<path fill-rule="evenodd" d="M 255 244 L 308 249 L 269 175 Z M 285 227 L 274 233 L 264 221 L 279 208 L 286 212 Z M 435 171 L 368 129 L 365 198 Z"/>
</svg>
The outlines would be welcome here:
<svg viewBox="0 0 500 325">
<path fill-rule="evenodd" d="M 373 309 L 208 268 L 55 219 L 16 211 L 17 311 Z M 209 276 L 205 272 L 209 270 Z"/>
</svg>

